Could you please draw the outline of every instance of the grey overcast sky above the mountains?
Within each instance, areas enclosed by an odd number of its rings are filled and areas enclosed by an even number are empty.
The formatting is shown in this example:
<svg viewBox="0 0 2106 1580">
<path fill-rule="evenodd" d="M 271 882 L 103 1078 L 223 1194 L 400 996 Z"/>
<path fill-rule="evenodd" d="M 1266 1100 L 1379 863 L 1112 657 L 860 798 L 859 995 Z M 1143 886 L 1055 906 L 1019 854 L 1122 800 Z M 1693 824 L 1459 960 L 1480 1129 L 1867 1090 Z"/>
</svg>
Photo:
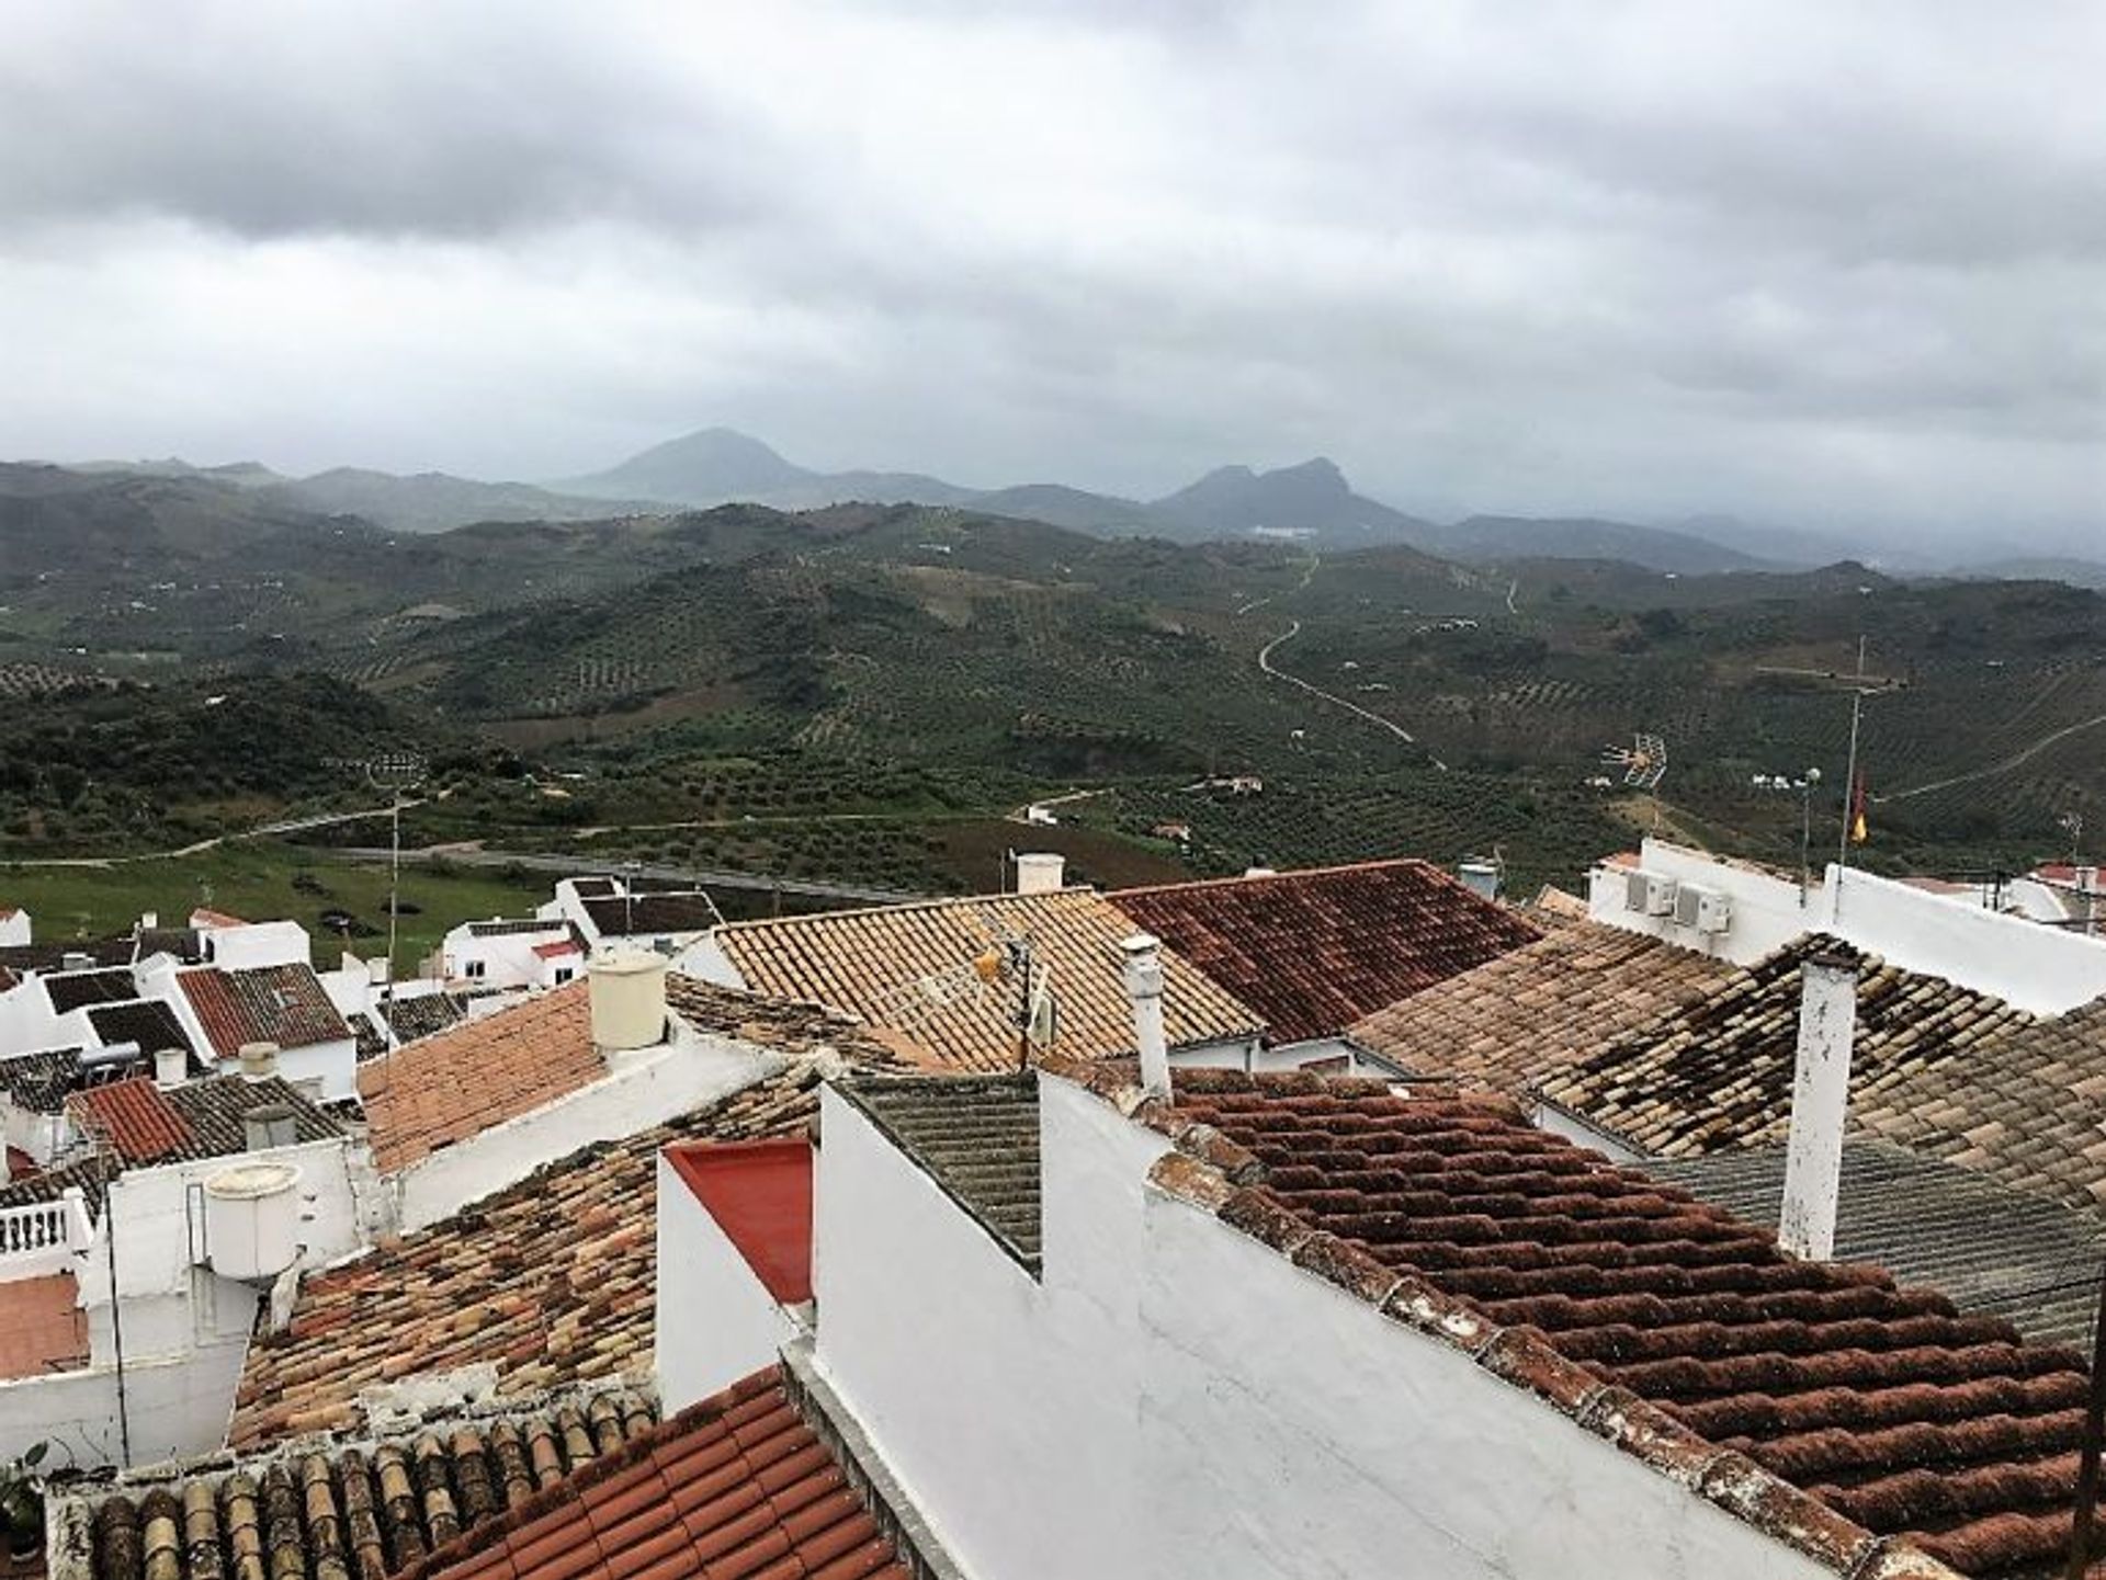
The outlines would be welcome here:
<svg viewBox="0 0 2106 1580">
<path fill-rule="evenodd" d="M 2106 6 L 0 0 L 0 454 L 2106 553 Z"/>
</svg>

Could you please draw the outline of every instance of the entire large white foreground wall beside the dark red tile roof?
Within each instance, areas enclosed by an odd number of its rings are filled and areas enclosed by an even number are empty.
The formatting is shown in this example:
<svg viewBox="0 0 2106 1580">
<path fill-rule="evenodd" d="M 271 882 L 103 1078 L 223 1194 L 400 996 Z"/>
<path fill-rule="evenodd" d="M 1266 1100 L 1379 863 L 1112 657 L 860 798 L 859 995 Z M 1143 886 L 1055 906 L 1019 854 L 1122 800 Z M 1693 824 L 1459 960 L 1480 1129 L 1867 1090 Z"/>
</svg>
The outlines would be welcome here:
<svg viewBox="0 0 2106 1580">
<path fill-rule="evenodd" d="M 1152 1191 L 1167 1142 L 1064 1081 L 1042 1283 L 832 1092 L 821 1126 L 815 1363 L 967 1572 L 1828 1574 Z"/>
</svg>

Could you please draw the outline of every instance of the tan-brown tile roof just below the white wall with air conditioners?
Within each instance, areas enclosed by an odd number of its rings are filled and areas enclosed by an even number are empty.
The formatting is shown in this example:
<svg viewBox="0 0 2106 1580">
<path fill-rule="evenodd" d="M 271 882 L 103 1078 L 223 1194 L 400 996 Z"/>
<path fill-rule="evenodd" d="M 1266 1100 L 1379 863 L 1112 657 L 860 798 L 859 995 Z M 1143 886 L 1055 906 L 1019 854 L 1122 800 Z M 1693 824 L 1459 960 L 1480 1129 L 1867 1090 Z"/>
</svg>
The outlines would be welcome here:
<svg viewBox="0 0 2106 1580">
<path fill-rule="evenodd" d="M 1377 1010 L 1352 1039 L 1411 1075 L 1516 1092 L 1731 974 L 1725 961 L 1641 932 L 1569 921 Z"/>
</svg>

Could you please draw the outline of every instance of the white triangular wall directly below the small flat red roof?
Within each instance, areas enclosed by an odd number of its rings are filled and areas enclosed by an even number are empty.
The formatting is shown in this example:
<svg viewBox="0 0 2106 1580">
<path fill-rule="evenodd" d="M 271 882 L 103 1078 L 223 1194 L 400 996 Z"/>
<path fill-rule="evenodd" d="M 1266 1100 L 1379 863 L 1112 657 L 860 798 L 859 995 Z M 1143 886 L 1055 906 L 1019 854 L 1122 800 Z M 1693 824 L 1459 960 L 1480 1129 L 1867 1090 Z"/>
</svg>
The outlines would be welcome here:
<svg viewBox="0 0 2106 1580">
<path fill-rule="evenodd" d="M 657 1267 L 653 1365 L 665 1416 L 773 1365 L 802 1332 L 663 1153 Z"/>
</svg>

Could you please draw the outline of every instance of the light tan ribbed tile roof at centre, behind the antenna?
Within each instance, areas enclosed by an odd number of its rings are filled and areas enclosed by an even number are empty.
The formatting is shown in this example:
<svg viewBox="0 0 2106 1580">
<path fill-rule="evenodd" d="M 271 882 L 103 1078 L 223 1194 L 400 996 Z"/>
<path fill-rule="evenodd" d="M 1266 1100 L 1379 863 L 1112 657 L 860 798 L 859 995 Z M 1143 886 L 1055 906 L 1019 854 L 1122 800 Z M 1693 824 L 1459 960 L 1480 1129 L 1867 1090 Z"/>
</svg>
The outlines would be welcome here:
<svg viewBox="0 0 2106 1580">
<path fill-rule="evenodd" d="M 952 976 L 994 947 L 994 928 L 1030 936 L 1051 966 L 1057 1048 L 1076 1058 L 1133 1050 L 1133 1008 L 1118 945 L 1135 928 L 1091 890 L 994 894 L 872 911 L 735 921 L 716 940 L 748 987 L 811 999 L 897 1033 L 901 1052 L 933 1069 L 1007 1071 L 1017 1065 L 1019 989 L 962 985 L 933 1001 L 916 983 Z M 1173 1048 L 1253 1035 L 1261 1016 L 1200 970 L 1163 951 L 1163 1018 Z"/>
</svg>

